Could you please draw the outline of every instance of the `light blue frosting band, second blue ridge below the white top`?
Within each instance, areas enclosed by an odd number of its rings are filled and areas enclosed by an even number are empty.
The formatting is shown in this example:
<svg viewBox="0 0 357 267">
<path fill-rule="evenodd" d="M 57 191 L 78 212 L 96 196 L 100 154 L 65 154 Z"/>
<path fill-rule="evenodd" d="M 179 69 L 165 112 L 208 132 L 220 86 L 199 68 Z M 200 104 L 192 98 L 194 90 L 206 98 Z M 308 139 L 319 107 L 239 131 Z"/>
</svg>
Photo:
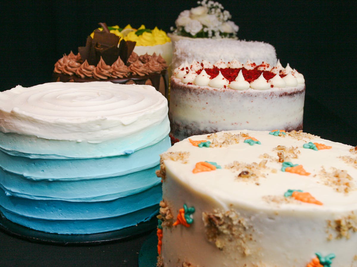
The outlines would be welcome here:
<svg viewBox="0 0 357 267">
<path fill-rule="evenodd" d="M 31 180 L 81 180 L 120 176 L 156 166 L 171 146 L 170 137 L 135 153 L 104 158 L 41 159 L 0 151 L 0 168 Z"/>
</svg>

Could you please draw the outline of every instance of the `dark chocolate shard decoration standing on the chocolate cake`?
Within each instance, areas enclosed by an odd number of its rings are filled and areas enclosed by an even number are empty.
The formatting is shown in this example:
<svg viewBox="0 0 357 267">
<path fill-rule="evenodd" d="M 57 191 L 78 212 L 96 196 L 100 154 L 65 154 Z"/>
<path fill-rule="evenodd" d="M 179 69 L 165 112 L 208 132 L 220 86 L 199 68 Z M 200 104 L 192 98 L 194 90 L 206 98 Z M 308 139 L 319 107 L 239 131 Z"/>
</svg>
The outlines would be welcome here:
<svg viewBox="0 0 357 267">
<path fill-rule="evenodd" d="M 96 66 L 102 57 L 106 64 L 112 65 L 120 57 L 126 64 L 136 42 L 121 40 L 118 47 L 120 37 L 111 33 L 106 23 L 101 22 L 99 25 L 103 30 L 96 29 L 93 38 L 87 37 L 86 46 L 78 47 L 83 61 L 87 60 L 90 65 Z"/>
</svg>

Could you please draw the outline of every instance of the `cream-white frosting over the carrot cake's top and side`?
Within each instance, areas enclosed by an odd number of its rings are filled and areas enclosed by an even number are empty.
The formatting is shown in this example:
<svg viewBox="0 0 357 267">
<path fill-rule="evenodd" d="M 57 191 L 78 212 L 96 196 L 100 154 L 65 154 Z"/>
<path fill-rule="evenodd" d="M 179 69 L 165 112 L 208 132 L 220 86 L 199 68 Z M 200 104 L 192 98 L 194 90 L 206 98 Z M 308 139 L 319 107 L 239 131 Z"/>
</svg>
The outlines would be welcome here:
<svg viewBox="0 0 357 267">
<path fill-rule="evenodd" d="M 288 134 L 285 137 L 274 136 L 269 131 L 241 130 L 225 133 L 244 133 L 255 137 L 261 144 L 251 146 L 244 143 L 246 137 L 241 136 L 237 138 L 239 143 L 236 144 L 233 141 L 222 147 L 199 148 L 185 139 L 167 151 L 189 152 L 184 161 L 164 160 L 166 178 L 163 199 L 167 209 L 173 221 L 183 204 L 193 206 L 195 213 L 190 227 L 163 227 L 161 256 L 164 265 L 181 266 L 185 262 L 193 266 L 287 266 L 288 262 L 288 266 L 307 266 L 315 253 L 320 252 L 322 256 L 329 253 L 336 255 L 332 266 L 354 266 L 355 251 L 346 248 L 357 245 L 357 233 L 353 227 L 340 228 L 341 231 L 337 227 L 340 222 L 342 225 L 346 221 L 351 225 L 357 223 L 357 169 L 341 158 L 356 158 L 356 153 L 350 152 L 353 147 L 303 133 L 296 137 Z M 232 141 L 232 138 L 223 134 L 217 133 L 216 141 Z M 201 135 L 190 138 L 214 143 L 216 137 Z M 303 148 L 308 142 L 322 143 L 332 148 L 318 151 Z M 297 158 L 291 156 L 290 161 L 301 164 L 311 174 L 301 176 L 281 171 L 282 163 L 278 162 L 276 149 L 278 146 L 296 147 Z M 238 165 L 234 162 L 251 164 L 265 159 L 267 168 L 260 169 L 265 177 L 258 173 L 256 178 L 245 178 L 245 173 L 241 174 L 244 168 L 227 168 L 232 163 Z M 196 163 L 202 161 L 215 162 L 221 168 L 193 173 Z M 332 168 L 343 170 L 351 177 L 346 190 L 343 189 L 346 184 L 340 180 L 343 175 L 329 176 L 328 173 L 333 173 Z M 342 190 L 336 189 L 339 182 Z M 284 197 L 288 189 L 309 192 L 322 205 Z M 237 227 L 236 236 L 234 233 L 226 235 L 220 232 L 218 237 L 211 235 L 213 240 L 208 240 L 203 213 L 212 214 L 215 210 L 218 214 L 228 212 L 236 225 L 228 224 L 226 227 L 224 223 L 230 220 L 219 224 L 219 217 L 211 217 L 212 225 L 216 223 L 218 229 L 222 227 L 228 233 L 231 233 L 230 226 Z M 242 227 L 242 232 L 239 227 Z M 192 247 L 197 249 L 192 250 Z"/>
</svg>

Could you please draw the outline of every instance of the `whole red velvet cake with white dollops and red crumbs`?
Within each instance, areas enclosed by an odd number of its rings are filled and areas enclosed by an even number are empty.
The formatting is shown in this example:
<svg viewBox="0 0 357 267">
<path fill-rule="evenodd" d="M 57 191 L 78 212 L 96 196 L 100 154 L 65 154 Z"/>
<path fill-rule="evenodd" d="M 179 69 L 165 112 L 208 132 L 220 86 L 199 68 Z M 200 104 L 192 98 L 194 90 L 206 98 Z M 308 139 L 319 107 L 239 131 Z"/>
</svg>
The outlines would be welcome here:
<svg viewBox="0 0 357 267">
<path fill-rule="evenodd" d="M 274 68 L 238 63 L 186 62 L 175 69 L 169 109 L 175 138 L 237 129 L 302 129 L 302 74 L 279 62 Z"/>
</svg>

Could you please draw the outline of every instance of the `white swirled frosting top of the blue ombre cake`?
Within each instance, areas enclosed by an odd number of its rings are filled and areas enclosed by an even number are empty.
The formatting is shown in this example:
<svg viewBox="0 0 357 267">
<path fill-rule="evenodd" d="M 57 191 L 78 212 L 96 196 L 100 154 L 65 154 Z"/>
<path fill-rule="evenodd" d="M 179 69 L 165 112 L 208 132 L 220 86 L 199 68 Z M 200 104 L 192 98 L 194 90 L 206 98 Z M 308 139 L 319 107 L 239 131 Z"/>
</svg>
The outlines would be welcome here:
<svg viewBox="0 0 357 267">
<path fill-rule="evenodd" d="M 150 85 L 18 85 L 0 92 L 0 131 L 100 143 L 159 124 L 167 111 L 166 98 Z"/>
</svg>

